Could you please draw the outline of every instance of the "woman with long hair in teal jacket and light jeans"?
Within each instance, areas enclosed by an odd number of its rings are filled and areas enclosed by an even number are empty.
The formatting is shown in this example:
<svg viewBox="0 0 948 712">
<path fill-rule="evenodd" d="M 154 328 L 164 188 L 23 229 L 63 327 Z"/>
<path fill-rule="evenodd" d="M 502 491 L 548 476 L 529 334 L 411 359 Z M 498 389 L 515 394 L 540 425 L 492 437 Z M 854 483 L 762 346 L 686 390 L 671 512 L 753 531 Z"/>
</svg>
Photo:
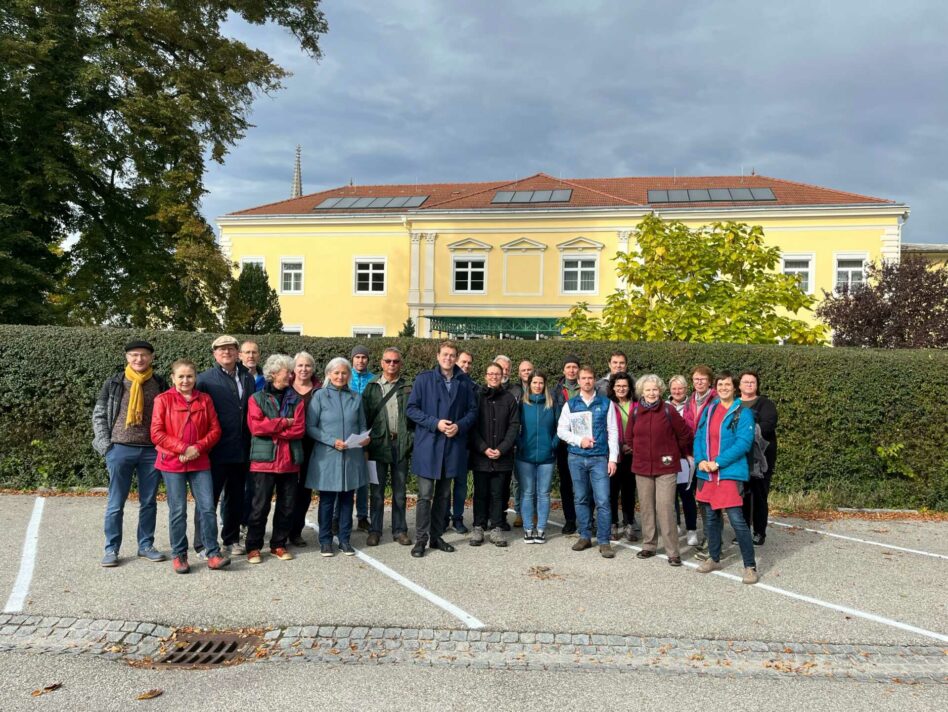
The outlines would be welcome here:
<svg viewBox="0 0 948 712">
<path fill-rule="evenodd" d="M 546 524 L 550 517 L 550 489 L 553 463 L 556 462 L 556 423 L 559 409 L 546 387 L 545 373 L 530 375 L 530 393 L 520 403 L 520 436 L 517 438 L 515 467 L 520 481 L 520 515 L 523 540 L 527 544 L 546 542 Z M 536 526 L 533 517 L 536 516 Z"/>
</svg>

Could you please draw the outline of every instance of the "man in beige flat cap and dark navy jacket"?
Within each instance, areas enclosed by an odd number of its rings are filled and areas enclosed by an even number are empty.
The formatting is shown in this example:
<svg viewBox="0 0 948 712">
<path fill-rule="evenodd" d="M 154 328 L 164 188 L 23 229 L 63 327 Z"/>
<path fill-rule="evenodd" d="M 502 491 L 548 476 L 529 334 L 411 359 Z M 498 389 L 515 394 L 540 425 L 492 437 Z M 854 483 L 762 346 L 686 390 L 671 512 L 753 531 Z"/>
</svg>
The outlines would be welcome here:
<svg viewBox="0 0 948 712">
<path fill-rule="evenodd" d="M 221 439 L 211 450 L 211 477 L 214 480 L 214 508 L 225 494 L 221 507 L 221 541 L 225 556 L 247 553 L 240 545 L 240 519 L 244 508 L 244 487 L 250 454 L 247 429 L 247 402 L 254 392 L 254 379 L 237 360 L 239 344 L 233 336 L 219 336 L 211 344 L 213 366 L 198 376 L 198 390 L 214 401 L 221 424 Z M 204 542 L 195 522 L 194 550 L 204 554 Z"/>
</svg>

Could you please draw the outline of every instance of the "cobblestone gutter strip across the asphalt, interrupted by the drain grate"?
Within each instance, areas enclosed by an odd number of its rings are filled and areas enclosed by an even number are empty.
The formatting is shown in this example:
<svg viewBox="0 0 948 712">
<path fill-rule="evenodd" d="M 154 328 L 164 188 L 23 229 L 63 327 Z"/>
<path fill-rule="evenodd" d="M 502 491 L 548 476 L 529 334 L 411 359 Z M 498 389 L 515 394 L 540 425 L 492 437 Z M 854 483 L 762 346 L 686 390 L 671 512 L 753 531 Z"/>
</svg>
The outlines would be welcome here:
<svg viewBox="0 0 948 712">
<path fill-rule="evenodd" d="M 224 632 L 224 631 L 217 631 Z M 148 665 L 175 629 L 141 621 L 0 614 L 0 652 L 92 655 Z M 261 631 L 253 664 L 330 662 L 497 670 L 948 683 L 948 649 L 431 628 L 289 626 Z"/>
</svg>

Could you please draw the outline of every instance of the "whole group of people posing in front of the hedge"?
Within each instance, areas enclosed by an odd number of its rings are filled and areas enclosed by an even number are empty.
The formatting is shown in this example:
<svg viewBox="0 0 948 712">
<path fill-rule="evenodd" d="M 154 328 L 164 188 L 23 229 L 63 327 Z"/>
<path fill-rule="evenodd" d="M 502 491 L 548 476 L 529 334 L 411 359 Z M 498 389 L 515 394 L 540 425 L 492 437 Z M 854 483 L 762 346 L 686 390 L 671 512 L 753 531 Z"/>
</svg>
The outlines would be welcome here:
<svg viewBox="0 0 948 712">
<path fill-rule="evenodd" d="M 698 570 L 713 571 L 727 515 L 743 580 L 758 580 L 754 546 L 766 538 L 777 413 L 754 371 L 715 375 L 698 365 L 690 374 L 693 390 L 684 376 L 673 376 L 666 400 L 664 380 L 634 379 L 619 351 L 598 380 L 591 366 L 566 356 L 555 383 L 526 360 L 511 378 L 513 364 L 499 355 L 481 385 L 472 377 L 473 356 L 451 341 L 439 345 L 436 365 L 413 381 L 395 347 L 384 350 L 380 373 L 372 374 L 368 350 L 357 346 L 349 359 L 326 364 L 324 382 L 306 352 L 274 354 L 261 366 L 253 342 L 221 336 L 211 348 L 214 367 L 199 374 L 193 362 L 177 360 L 169 387 L 152 370 L 153 346 L 132 341 L 124 371 L 103 385 L 93 413 L 93 445 L 109 471 L 103 566 L 118 565 L 133 473 L 138 555 L 166 558 L 154 546 L 163 479 L 173 567 L 187 573 L 188 486 L 195 500 L 193 548 L 209 568 L 220 569 L 231 556 L 263 560 L 271 505 L 270 553 L 292 559 L 291 547 L 307 545 L 303 530 L 314 491 L 323 556 L 355 554 L 354 509 L 366 545 L 381 543 L 389 486 L 392 538 L 414 557 L 428 549 L 454 551 L 444 538 L 452 527 L 470 534 L 471 546 L 507 546 L 511 496 L 513 526 L 523 527 L 525 543 L 543 544 L 555 466 L 564 518 L 558 526 L 578 534 L 574 551 L 591 548 L 595 535 L 599 553 L 611 559 L 612 540 L 637 541 L 637 495 L 638 558 L 655 556 L 660 534 L 668 563 L 681 566 L 683 514 L 686 542 L 702 560 Z M 414 541 L 406 516 L 409 473 L 417 478 Z M 469 473 L 472 530 L 464 525 Z"/>
</svg>

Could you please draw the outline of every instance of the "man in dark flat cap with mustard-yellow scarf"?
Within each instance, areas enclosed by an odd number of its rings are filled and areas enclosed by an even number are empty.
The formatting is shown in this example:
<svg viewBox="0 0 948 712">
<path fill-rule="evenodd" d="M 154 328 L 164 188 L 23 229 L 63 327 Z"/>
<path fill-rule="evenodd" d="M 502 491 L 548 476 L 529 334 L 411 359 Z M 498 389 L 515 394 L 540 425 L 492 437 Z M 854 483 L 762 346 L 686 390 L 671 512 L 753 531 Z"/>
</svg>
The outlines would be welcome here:
<svg viewBox="0 0 948 712">
<path fill-rule="evenodd" d="M 105 457 L 109 495 L 105 505 L 105 554 L 102 565 L 118 566 L 125 502 L 138 476 L 138 555 L 164 561 L 155 548 L 156 495 L 161 475 L 155 469 L 151 413 L 155 398 L 168 385 L 151 368 L 155 347 L 147 341 L 125 345 L 125 369 L 102 384 L 92 411 L 92 447 Z"/>
</svg>

